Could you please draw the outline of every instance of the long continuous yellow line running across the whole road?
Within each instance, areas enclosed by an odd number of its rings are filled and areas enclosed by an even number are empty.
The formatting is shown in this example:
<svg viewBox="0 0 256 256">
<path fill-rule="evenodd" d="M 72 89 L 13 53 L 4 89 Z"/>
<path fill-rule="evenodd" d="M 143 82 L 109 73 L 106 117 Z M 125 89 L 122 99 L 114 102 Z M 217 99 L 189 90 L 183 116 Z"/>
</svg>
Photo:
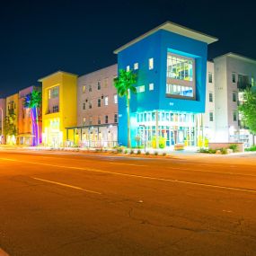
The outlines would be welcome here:
<svg viewBox="0 0 256 256">
<path fill-rule="evenodd" d="M 87 172 L 108 173 L 108 174 L 112 174 L 112 175 L 140 178 L 140 179 L 152 180 L 152 181 L 168 181 L 168 182 L 172 182 L 172 183 L 181 183 L 181 184 L 195 185 L 195 186 L 208 187 L 208 188 L 216 188 L 216 189 L 224 189 L 224 190 L 237 190 L 237 191 L 256 193 L 256 190 L 252 190 L 252 189 L 226 187 L 226 186 L 219 186 L 219 185 L 213 185 L 213 184 L 208 184 L 208 183 L 199 183 L 199 182 L 193 182 L 193 181 L 171 180 L 171 179 L 156 178 L 156 177 L 151 177 L 151 176 L 142 176 L 142 175 L 136 175 L 136 174 L 121 173 L 121 172 L 109 172 L 109 171 L 103 171 L 100 169 L 56 165 L 56 164 L 50 164 L 50 163 L 36 163 L 36 162 L 30 162 L 30 161 L 20 161 L 20 160 L 15 160 L 15 159 L 10 159 L 10 158 L 0 158 L 0 159 L 12 161 L 12 162 L 18 162 L 18 163 L 32 163 L 32 164 L 37 164 L 37 165 L 44 165 L 44 166 L 51 166 L 51 167 L 65 168 L 65 169 L 73 169 L 73 170 L 82 170 L 82 171 L 87 171 Z"/>
</svg>

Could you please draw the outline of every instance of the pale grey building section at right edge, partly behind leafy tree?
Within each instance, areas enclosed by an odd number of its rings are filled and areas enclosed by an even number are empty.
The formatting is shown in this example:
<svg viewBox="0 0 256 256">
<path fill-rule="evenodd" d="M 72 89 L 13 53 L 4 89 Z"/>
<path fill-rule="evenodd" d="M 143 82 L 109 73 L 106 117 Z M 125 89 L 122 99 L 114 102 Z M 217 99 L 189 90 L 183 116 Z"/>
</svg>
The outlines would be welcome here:
<svg viewBox="0 0 256 256">
<path fill-rule="evenodd" d="M 216 84 L 216 141 L 252 144 L 252 135 L 243 127 L 238 105 L 243 90 L 256 85 L 256 60 L 228 53 L 214 59 Z"/>
</svg>

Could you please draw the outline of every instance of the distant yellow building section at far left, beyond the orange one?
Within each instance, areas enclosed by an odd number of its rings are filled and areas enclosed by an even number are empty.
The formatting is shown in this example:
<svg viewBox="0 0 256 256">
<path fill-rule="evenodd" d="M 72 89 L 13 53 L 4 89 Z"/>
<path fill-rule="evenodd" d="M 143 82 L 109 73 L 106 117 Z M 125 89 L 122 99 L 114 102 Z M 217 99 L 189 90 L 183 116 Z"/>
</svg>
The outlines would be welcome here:
<svg viewBox="0 0 256 256">
<path fill-rule="evenodd" d="M 9 131 L 6 135 L 6 144 L 16 144 L 17 131 L 18 131 L 18 115 L 19 115 L 19 93 L 15 93 L 6 98 L 6 118 L 9 120 Z"/>
</svg>

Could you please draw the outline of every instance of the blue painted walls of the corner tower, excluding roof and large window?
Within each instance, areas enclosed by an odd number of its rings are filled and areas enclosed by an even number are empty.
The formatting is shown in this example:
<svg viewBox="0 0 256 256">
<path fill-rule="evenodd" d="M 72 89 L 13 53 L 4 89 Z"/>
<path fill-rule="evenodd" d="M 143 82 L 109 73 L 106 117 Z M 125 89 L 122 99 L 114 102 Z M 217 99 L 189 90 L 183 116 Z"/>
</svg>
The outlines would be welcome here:
<svg viewBox="0 0 256 256">
<path fill-rule="evenodd" d="M 196 100 L 166 97 L 167 53 L 195 58 Z M 154 58 L 154 68 L 149 70 L 148 60 Z M 139 40 L 118 54 L 118 68 L 126 69 L 138 63 L 137 84 L 145 85 L 144 93 L 132 94 L 130 98 L 131 141 L 136 142 L 136 112 L 148 110 L 172 110 L 179 112 L 202 113 L 205 111 L 207 43 L 159 30 Z M 149 91 L 149 84 L 154 90 Z M 127 146 L 127 112 L 125 98 L 119 98 L 119 145 Z"/>
</svg>

